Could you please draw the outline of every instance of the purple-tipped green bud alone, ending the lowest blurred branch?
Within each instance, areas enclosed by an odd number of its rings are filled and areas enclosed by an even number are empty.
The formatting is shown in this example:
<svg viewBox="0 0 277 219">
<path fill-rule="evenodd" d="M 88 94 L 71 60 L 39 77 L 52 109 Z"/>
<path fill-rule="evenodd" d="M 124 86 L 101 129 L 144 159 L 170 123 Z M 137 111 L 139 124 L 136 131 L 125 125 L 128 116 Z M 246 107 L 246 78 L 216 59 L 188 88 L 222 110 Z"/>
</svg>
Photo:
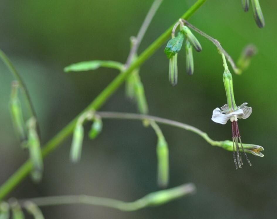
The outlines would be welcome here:
<svg viewBox="0 0 277 219">
<path fill-rule="evenodd" d="M 157 192 L 152 192 L 142 198 L 147 203 L 147 206 L 159 206 L 168 203 L 174 199 L 179 199 L 185 195 L 192 194 L 196 191 L 194 184 L 183 184 L 181 186 L 165 189 Z"/>
</svg>

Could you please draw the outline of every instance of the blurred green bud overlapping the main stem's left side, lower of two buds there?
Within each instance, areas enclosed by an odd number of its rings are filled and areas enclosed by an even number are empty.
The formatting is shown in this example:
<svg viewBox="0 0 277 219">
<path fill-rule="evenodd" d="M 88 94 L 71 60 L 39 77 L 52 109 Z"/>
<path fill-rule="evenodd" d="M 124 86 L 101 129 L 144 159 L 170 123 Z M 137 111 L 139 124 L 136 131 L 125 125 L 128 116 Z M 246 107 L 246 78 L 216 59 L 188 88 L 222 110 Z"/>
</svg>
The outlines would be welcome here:
<svg viewBox="0 0 277 219">
<path fill-rule="evenodd" d="M 28 126 L 28 149 L 30 159 L 33 163 L 33 170 L 31 172 L 32 179 L 39 182 L 43 172 L 43 158 L 40 148 L 40 139 L 36 131 L 36 119 L 30 118 L 27 122 Z"/>
</svg>

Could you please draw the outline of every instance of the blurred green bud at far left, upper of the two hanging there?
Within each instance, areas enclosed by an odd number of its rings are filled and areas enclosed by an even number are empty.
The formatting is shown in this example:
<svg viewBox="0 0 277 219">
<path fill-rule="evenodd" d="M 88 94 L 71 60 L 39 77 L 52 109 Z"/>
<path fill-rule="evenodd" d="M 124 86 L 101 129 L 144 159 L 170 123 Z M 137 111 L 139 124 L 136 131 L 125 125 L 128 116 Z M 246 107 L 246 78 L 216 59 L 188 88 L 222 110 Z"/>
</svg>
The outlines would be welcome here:
<svg viewBox="0 0 277 219">
<path fill-rule="evenodd" d="M 13 127 L 21 142 L 27 140 L 26 127 L 24 124 L 21 103 L 18 99 L 18 81 L 13 81 L 11 90 L 10 110 L 13 121 Z M 22 144 L 23 145 L 23 144 Z"/>
</svg>

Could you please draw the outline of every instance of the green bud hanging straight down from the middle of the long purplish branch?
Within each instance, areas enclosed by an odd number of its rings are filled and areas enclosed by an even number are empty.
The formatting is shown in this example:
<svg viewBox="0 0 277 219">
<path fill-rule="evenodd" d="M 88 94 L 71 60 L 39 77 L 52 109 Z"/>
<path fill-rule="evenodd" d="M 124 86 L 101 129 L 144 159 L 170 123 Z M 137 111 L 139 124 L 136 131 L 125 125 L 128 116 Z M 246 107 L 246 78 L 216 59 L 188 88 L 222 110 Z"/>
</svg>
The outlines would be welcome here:
<svg viewBox="0 0 277 219">
<path fill-rule="evenodd" d="M 164 136 L 158 135 L 157 143 L 157 180 L 159 187 L 165 188 L 169 183 L 169 151 Z"/>
</svg>

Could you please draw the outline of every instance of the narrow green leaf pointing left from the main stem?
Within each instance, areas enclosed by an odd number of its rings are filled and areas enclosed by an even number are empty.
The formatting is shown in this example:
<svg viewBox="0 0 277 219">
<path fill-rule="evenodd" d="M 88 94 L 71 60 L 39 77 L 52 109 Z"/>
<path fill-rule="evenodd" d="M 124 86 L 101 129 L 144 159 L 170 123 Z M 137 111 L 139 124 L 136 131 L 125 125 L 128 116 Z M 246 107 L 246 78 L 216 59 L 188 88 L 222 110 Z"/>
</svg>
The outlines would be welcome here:
<svg viewBox="0 0 277 219">
<path fill-rule="evenodd" d="M 123 69 L 123 64 L 117 61 L 101 61 L 101 60 L 94 60 L 94 61 L 82 61 L 79 63 L 71 64 L 64 68 L 65 72 L 70 71 L 90 71 L 96 70 L 100 67 L 112 68 L 112 69 Z"/>
</svg>

